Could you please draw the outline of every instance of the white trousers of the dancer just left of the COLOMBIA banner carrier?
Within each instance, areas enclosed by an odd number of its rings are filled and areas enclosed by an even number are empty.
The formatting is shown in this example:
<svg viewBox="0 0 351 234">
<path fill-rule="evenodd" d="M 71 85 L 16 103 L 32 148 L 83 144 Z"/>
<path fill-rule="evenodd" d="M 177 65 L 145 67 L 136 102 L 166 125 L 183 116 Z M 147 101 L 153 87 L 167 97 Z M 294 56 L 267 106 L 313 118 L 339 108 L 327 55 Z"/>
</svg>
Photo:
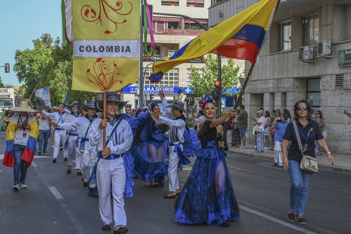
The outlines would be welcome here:
<svg viewBox="0 0 351 234">
<path fill-rule="evenodd" d="M 82 173 L 84 175 L 84 180 L 88 181 L 94 168 L 95 160 L 97 158 L 97 153 L 95 151 L 95 146 L 91 146 L 88 141 L 85 142 L 84 153 L 82 156 Z M 102 159 L 100 159 L 101 161 Z M 105 160 L 105 159 L 104 159 Z M 99 163 L 100 163 L 99 161 Z M 106 160 L 105 160 L 106 161 Z"/>
</svg>

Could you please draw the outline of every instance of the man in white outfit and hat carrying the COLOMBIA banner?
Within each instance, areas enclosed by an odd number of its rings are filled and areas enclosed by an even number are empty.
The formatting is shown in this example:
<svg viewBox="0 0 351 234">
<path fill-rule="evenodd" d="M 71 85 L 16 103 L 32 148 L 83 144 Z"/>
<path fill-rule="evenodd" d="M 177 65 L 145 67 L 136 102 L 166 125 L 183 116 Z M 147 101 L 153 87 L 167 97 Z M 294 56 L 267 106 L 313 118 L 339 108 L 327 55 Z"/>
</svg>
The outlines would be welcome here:
<svg viewBox="0 0 351 234">
<path fill-rule="evenodd" d="M 98 161 L 96 169 L 97 186 L 99 191 L 100 216 L 104 222 L 102 229 L 110 230 L 114 220 L 114 234 L 128 232 L 127 218 L 124 210 L 125 196 L 133 196 L 132 180 L 133 158 L 127 152 L 133 141 L 132 129 L 129 123 L 120 119 L 117 111 L 127 102 L 117 100 L 115 93 L 106 95 L 106 119 L 95 119 L 90 130 L 89 142 L 96 147 Z M 99 111 L 103 109 L 103 101 L 97 101 Z M 103 147 L 103 130 L 106 128 L 106 148 Z M 111 208 L 111 184 L 113 194 L 113 215 Z"/>
</svg>

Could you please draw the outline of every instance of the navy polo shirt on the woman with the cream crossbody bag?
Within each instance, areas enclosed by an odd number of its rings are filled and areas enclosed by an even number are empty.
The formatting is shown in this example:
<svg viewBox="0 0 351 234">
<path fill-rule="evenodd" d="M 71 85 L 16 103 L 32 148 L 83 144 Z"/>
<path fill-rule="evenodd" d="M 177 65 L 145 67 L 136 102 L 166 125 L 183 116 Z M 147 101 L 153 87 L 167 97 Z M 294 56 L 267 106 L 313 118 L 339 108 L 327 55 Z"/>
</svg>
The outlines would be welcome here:
<svg viewBox="0 0 351 234">
<path fill-rule="evenodd" d="M 302 146 L 305 145 L 305 139 L 307 138 L 307 134 L 309 131 L 310 132 L 310 136 L 307 139 L 307 149 L 304 152 L 305 155 L 311 156 L 313 158 L 316 158 L 315 154 L 314 154 L 314 148 L 316 148 L 316 145 L 314 145 L 314 140 L 321 140 L 324 139 L 322 132 L 320 131 L 320 128 L 318 126 L 318 123 L 316 121 L 312 121 L 310 120 L 306 127 L 304 127 L 299 120 L 296 120 L 296 125 L 297 125 L 297 131 L 300 134 L 300 139 L 301 139 L 301 144 Z M 299 128 L 301 129 L 301 131 L 303 132 L 305 138 L 303 138 L 301 132 L 299 131 Z M 311 129 L 312 128 L 312 129 Z M 293 122 L 290 122 L 285 130 L 284 136 L 283 136 L 284 140 L 287 141 L 291 141 L 291 145 L 289 148 L 289 153 L 287 155 L 288 160 L 294 160 L 297 162 L 301 162 L 302 159 L 302 154 L 299 148 L 299 143 L 297 142 L 297 138 L 296 138 L 296 134 L 295 134 L 295 129 L 294 129 L 294 125 Z"/>
</svg>

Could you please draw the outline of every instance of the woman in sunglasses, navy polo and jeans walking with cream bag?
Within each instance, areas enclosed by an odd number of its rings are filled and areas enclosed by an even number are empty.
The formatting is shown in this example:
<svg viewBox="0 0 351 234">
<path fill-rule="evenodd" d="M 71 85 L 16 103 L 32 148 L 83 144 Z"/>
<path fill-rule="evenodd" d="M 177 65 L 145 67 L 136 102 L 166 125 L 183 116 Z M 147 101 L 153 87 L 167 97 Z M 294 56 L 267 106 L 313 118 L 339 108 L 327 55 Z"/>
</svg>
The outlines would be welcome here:
<svg viewBox="0 0 351 234">
<path fill-rule="evenodd" d="M 311 120 L 311 105 L 305 99 L 302 99 L 294 105 L 294 121 L 286 127 L 283 142 L 283 168 L 289 170 L 290 175 L 290 211 L 288 213 L 289 221 L 294 221 L 295 215 L 300 224 L 306 223 L 304 219 L 304 210 L 307 202 L 308 190 L 312 179 L 312 173 L 303 171 L 300 168 L 302 160 L 302 151 L 304 155 L 314 156 L 314 140 L 327 153 L 327 157 L 331 165 L 335 165 L 333 156 L 331 155 L 324 139 L 322 132 L 316 121 Z M 301 139 L 303 149 L 300 150 L 298 140 L 295 134 L 294 124 L 297 125 L 298 134 Z M 289 154 L 286 155 L 286 148 L 291 141 Z"/>
</svg>

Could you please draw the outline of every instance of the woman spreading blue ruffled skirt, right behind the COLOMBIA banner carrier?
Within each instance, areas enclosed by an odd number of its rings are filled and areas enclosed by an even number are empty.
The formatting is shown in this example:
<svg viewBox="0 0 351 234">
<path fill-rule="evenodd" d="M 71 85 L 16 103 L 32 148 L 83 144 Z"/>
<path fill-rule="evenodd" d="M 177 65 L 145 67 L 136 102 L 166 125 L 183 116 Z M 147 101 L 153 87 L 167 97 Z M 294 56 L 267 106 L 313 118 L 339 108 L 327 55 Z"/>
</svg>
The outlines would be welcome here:
<svg viewBox="0 0 351 234">
<path fill-rule="evenodd" d="M 148 110 L 160 113 L 160 107 L 152 102 Z M 137 111 L 137 118 L 127 120 L 133 132 L 133 144 L 130 149 L 134 158 L 134 173 L 144 181 L 150 181 L 153 188 L 165 183 L 167 174 L 166 153 L 168 137 L 164 134 L 168 126 L 151 117 L 150 114 Z"/>
</svg>

